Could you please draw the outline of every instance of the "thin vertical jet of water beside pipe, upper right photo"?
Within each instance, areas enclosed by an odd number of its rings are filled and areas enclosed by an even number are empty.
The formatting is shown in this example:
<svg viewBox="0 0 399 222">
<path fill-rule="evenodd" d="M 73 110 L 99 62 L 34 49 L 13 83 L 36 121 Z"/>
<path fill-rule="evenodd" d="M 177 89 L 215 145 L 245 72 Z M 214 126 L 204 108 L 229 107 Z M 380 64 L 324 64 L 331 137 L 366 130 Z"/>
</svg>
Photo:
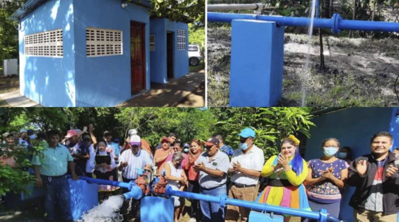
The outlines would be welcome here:
<svg viewBox="0 0 399 222">
<path fill-rule="evenodd" d="M 309 38 L 308 38 L 308 54 L 306 55 L 306 62 L 305 62 L 305 67 L 303 70 L 304 75 L 302 76 L 302 106 L 306 105 L 306 83 L 308 81 L 308 77 L 310 75 L 310 69 L 309 69 L 309 62 L 310 62 L 310 50 L 312 49 L 312 34 L 313 34 L 313 20 L 315 17 L 315 11 L 316 11 L 316 0 L 312 0 L 312 10 L 310 13 L 310 24 L 309 24 Z"/>
</svg>

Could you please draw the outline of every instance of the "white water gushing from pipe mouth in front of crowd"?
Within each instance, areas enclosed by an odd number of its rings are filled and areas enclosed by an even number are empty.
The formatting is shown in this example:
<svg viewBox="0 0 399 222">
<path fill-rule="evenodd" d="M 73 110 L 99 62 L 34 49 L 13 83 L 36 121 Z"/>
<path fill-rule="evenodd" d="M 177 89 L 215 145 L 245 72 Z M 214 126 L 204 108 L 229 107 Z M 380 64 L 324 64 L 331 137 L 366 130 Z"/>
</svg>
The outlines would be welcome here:
<svg viewBox="0 0 399 222">
<path fill-rule="evenodd" d="M 78 222 L 122 222 L 123 217 L 119 214 L 119 209 L 123 204 L 121 195 L 111 196 L 102 204 L 97 205 L 82 216 Z"/>
</svg>

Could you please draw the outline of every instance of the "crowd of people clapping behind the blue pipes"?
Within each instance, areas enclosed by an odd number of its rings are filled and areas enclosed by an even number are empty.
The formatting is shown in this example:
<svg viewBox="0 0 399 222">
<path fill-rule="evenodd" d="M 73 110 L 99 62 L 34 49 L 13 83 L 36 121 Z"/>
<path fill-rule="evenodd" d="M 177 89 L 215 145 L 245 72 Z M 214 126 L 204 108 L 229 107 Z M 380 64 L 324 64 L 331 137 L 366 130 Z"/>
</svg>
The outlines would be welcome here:
<svg viewBox="0 0 399 222">
<path fill-rule="evenodd" d="M 239 147 L 235 150 L 224 144 L 220 135 L 184 144 L 170 133 L 153 150 L 136 129 L 129 130 L 122 143 L 113 141 L 109 131 L 96 137 L 93 130 L 92 124 L 82 130 L 69 130 L 62 140 L 56 130 L 37 135 L 24 129 L 3 134 L 5 149 L 15 144 L 28 147 L 33 140 L 47 141 L 44 157 L 33 156 L 31 163 L 36 185 L 47 189 L 44 206 L 49 220 L 55 220 L 55 202 L 62 206 L 62 219 L 71 220 L 67 173 L 73 180 L 86 176 L 129 182 L 136 180 L 143 169 L 164 176 L 174 190 L 210 196 L 226 194 L 232 199 L 304 211 L 325 209 L 337 218 L 343 191 L 353 186 L 356 190 L 350 206 L 356 222 L 397 220 L 399 149 L 391 152 L 393 137 L 388 132 L 376 133 L 370 142 L 371 153 L 355 160 L 350 147 L 341 148 L 338 139 L 327 138 L 321 143 L 323 156 L 305 161 L 299 154 L 300 141 L 289 135 L 281 141 L 280 153 L 265 161 L 251 128 L 242 129 L 237 135 Z M 17 167 L 12 156 L 0 158 L 2 165 Z M 99 199 L 118 189 L 99 186 Z M 189 201 L 190 208 L 183 198 L 174 197 L 175 222 L 185 213 L 190 215 L 190 222 L 246 222 L 250 213 L 242 207 Z M 133 208 L 133 217 L 139 220 L 140 202 L 134 202 Z M 290 220 L 289 215 L 283 216 L 284 222 Z"/>
</svg>

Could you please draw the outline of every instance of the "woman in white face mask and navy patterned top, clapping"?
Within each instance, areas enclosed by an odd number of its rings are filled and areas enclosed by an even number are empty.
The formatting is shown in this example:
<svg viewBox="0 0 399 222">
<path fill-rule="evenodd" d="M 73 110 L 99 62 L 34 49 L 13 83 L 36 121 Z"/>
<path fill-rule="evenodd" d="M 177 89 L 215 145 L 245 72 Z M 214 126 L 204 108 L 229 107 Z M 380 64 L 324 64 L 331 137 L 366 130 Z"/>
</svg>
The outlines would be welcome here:
<svg viewBox="0 0 399 222">
<path fill-rule="evenodd" d="M 336 158 L 340 142 L 327 138 L 322 143 L 324 155 L 308 162 L 309 175 L 305 180 L 308 186 L 308 199 L 312 211 L 325 209 L 329 215 L 337 217 L 340 213 L 341 191 L 345 188 L 349 165 Z"/>
</svg>

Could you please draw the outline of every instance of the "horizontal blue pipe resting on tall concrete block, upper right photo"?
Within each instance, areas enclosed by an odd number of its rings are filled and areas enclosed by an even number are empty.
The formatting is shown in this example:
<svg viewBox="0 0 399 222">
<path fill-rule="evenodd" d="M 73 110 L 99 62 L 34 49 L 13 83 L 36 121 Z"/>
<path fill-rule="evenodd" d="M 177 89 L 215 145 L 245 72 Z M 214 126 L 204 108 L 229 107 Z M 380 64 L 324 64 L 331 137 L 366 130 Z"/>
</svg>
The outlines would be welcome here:
<svg viewBox="0 0 399 222">
<path fill-rule="evenodd" d="M 222 12 L 207 12 L 208 21 L 231 22 L 233 19 L 254 19 L 264 21 L 275 21 L 283 26 L 308 27 L 310 18 L 307 17 L 288 17 L 275 15 L 256 15 L 256 14 L 235 14 Z M 342 29 L 363 30 L 363 31 L 392 31 L 399 32 L 399 22 L 385 21 L 360 21 L 342 19 L 339 14 L 334 14 L 330 18 L 316 18 L 313 21 L 313 28 L 331 28 L 334 33 Z"/>
</svg>

